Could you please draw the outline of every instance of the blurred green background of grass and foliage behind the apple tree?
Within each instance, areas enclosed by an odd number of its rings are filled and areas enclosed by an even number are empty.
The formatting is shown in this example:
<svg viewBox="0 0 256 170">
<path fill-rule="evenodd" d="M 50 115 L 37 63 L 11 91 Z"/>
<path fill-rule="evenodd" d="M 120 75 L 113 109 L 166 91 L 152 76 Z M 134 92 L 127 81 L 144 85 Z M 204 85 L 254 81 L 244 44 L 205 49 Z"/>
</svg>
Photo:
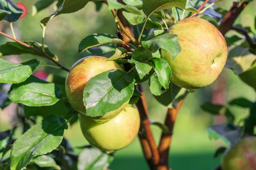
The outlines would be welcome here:
<svg viewBox="0 0 256 170">
<path fill-rule="evenodd" d="M 24 3 L 28 8 L 28 16 L 14 23 L 16 36 L 20 40 L 32 40 L 41 42 L 42 28 L 40 20 L 54 11 L 54 6 L 47 10 L 40 11 L 35 17 L 31 16 L 32 5 L 36 0 L 15 0 L 15 2 Z M 230 1 L 232 2 L 232 1 Z M 227 5 L 227 9 L 230 6 Z M 2 22 L 1 28 L 9 35 L 9 23 Z M 59 62 L 67 68 L 70 68 L 78 59 L 87 56 L 86 52 L 78 55 L 79 42 L 87 35 L 94 33 L 106 33 L 115 35 L 116 24 L 113 15 L 106 5 L 97 12 L 94 3 L 88 3 L 82 10 L 73 14 L 62 14 L 50 21 L 46 29 L 45 44 L 49 46 L 53 54 L 58 55 Z M 0 37 L 1 43 L 7 40 Z M 8 57 L 5 57 L 8 58 Z M 26 61 L 35 58 L 35 56 L 21 55 L 20 60 Z M 44 58 L 37 57 L 41 64 L 51 64 Z M 66 76 L 66 72 L 54 68 L 39 66 L 37 70 L 44 70 L 48 73 L 61 74 Z M 219 84 L 224 85 L 224 103 L 238 97 L 244 97 L 251 101 L 256 99 L 253 88 L 241 82 L 238 76 L 229 69 L 224 68 L 218 81 L 212 85 L 201 88 L 193 94 L 189 94 L 177 116 L 175 123 L 172 146 L 170 149 L 170 167 L 172 170 L 212 170 L 220 164 L 220 157 L 214 158 L 215 150 L 224 146 L 221 140 L 211 141 L 207 135 L 207 127 L 214 122 L 221 123 L 223 117 L 218 119 L 201 110 L 200 106 L 212 100 L 212 91 Z M 148 83 L 143 84 L 148 101 L 150 120 L 164 122 L 167 108 L 160 105 L 151 95 L 148 89 Z M 236 122 L 245 118 L 248 114 L 247 109 L 232 107 L 230 111 L 236 115 Z M 215 121 L 214 121 L 215 119 Z M 217 121 L 216 121 L 217 120 Z M 3 124 L 1 124 L 3 126 Z M 159 142 L 161 130 L 159 127 L 151 126 L 154 137 Z M 84 146 L 87 143 L 81 133 L 79 123 L 69 127 L 65 131 L 65 137 L 71 142 L 73 147 Z M 128 147 L 115 153 L 115 159 L 110 166 L 111 170 L 144 170 L 147 164 L 143 157 L 138 138 Z"/>
</svg>

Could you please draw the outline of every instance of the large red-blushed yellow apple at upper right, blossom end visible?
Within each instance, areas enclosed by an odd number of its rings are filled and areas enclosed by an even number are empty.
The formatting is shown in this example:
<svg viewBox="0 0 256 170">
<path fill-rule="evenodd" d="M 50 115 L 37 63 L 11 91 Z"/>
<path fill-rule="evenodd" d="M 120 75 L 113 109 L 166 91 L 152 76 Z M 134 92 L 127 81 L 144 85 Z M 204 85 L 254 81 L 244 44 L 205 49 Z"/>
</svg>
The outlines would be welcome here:
<svg viewBox="0 0 256 170">
<path fill-rule="evenodd" d="M 211 84 L 217 79 L 227 60 L 227 44 L 215 26 L 201 18 L 186 18 L 175 23 L 168 34 L 177 34 L 181 52 L 161 49 L 161 57 L 171 69 L 171 81 L 188 90 Z"/>
</svg>

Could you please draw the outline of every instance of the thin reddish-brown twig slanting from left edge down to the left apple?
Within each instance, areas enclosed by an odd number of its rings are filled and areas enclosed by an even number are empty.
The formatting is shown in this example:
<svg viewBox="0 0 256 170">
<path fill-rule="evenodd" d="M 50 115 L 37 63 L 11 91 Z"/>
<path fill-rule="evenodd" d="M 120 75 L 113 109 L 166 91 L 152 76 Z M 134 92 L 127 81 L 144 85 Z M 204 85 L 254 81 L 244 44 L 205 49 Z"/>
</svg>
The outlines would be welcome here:
<svg viewBox="0 0 256 170">
<path fill-rule="evenodd" d="M 23 46 L 25 46 L 25 47 L 27 47 L 27 48 L 30 48 L 30 49 L 32 49 L 32 50 L 34 50 L 34 51 L 40 53 L 43 57 L 46 57 L 47 59 L 49 59 L 50 61 L 52 61 L 54 64 L 58 65 L 62 70 L 65 70 L 65 71 L 67 71 L 67 72 L 69 71 L 69 69 L 67 69 L 67 68 L 65 68 L 64 66 L 62 66 L 60 63 L 58 63 L 57 61 L 55 61 L 52 57 L 50 57 L 48 54 L 44 53 L 43 51 L 40 51 L 40 50 L 38 50 L 38 49 L 36 49 L 36 48 L 34 48 L 34 47 L 32 47 L 32 46 L 30 46 L 30 45 L 28 45 L 28 44 L 26 44 L 26 43 L 20 41 L 20 40 L 17 40 L 17 39 L 15 39 L 15 38 L 13 38 L 13 37 L 11 37 L 11 36 L 9 36 L 9 35 L 7 35 L 7 34 L 1 32 L 1 31 L 0 31 L 0 34 L 2 34 L 3 36 L 5 36 L 5 37 L 7 37 L 7 38 L 9 38 L 9 39 L 11 39 L 11 40 L 14 40 L 15 42 L 19 43 L 20 45 L 23 45 Z"/>
</svg>

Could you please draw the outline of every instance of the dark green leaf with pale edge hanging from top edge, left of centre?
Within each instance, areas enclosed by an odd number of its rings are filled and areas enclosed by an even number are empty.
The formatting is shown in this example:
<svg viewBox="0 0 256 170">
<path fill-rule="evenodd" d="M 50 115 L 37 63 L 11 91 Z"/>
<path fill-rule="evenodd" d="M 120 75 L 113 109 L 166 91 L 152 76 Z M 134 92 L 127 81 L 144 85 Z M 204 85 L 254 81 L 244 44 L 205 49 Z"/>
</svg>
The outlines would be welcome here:
<svg viewBox="0 0 256 170">
<path fill-rule="evenodd" d="M 41 20 L 41 26 L 45 27 L 52 20 L 53 17 L 58 16 L 60 14 L 68 14 L 79 11 L 81 8 L 93 0 L 64 0 L 63 4 L 58 7 L 56 11 L 50 14 L 48 17 L 45 17 Z"/>
</svg>

